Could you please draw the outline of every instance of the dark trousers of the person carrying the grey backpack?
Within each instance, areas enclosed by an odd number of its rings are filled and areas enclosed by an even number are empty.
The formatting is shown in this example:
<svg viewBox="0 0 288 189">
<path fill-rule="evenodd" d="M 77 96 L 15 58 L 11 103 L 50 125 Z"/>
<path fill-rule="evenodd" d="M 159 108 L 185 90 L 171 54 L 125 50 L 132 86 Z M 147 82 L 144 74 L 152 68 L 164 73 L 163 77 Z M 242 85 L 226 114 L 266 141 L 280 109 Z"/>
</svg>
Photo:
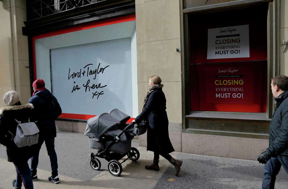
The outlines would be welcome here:
<svg viewBox="0 0 288 189">
<path fill-rule="evenodd" d="M 22 182 L 26 189 L 33 189 L 32 177 L 28 162 L 13 162 L 16 168 L 16 187 L 21 188 Z"/>
</svg>

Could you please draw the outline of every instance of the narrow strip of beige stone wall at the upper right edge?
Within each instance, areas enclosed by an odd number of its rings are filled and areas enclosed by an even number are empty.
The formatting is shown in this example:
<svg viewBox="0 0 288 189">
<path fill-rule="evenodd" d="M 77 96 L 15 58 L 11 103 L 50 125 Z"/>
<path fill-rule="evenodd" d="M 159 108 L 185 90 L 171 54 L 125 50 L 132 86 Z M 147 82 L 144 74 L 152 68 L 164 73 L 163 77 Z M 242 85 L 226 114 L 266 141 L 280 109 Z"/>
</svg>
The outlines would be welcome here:
<svg viewBox="0 0 288 189">
<path fill-rule="evenodd" d="M 280 40 L 288 41 L 288 1 L 280 0 Z M 280 45 L 280 74 L 288 76 L 288 47 Z"/>
</svg>

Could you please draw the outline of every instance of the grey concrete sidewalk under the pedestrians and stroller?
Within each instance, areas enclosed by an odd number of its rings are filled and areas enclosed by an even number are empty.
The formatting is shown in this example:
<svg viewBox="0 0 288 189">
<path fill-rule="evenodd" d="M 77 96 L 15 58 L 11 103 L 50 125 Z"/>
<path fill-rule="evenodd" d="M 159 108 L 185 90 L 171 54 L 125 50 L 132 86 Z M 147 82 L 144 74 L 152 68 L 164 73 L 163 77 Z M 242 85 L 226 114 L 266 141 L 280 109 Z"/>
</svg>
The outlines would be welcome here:
<svg viewBox="0 0 288 189">
<path fill-rule="evenodd" d="M 108 162 L 100 159 L 100 171 L 90 167 L 90 152 L 87 137 L 80 133 L 57 132 L 55 149 L 58 156 L 60 183 L 54 184 L 47 178 L 51 174 L 49 156 L 45 145 L 39 155 L 38 181 L 34 188 L 261 188 L 263 165 L 256 161 L 209 157 L 173 152 L 171 155 L 183 160 L 179 177 L 174 175 L 174 167 L 165 159 L 160 159 L 160 171 L 146 170 L 151 164 L 153 153 L 145 147 L 137 147 L 140 159 L 122 163 L 120 177 L 112 176 Z M 121 162 L 121 161 L 120 161 Z M 13 163 L 7 161 L 6 147 L 0 147 L 0 188 L 13 188 L 12 180 L 16 172 Z M 288 188 L 288 175 L 281 169 L 275 188 Z"/>
</svg>

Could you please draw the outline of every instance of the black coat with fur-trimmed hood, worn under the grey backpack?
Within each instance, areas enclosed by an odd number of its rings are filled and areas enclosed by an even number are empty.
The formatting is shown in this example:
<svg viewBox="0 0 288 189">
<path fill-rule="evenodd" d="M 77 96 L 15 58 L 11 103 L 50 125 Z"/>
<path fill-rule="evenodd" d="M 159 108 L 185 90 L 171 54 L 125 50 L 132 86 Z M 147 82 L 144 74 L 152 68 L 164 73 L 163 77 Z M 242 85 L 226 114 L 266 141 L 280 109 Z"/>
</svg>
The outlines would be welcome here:
<svg viewBox="0 0 288 189">
<path fill-rule="evenodd" d="M 27 162 L 36 152 L 36 145 L 18 148 L 13 142 L 18 123 L 14 120 L 24 122 L 31 116 L 32 104 L 19 106 L 8 106 L 1 109 L 0 114 L 0 143 L 6 146 L 9 162 Z"/>
</svg>

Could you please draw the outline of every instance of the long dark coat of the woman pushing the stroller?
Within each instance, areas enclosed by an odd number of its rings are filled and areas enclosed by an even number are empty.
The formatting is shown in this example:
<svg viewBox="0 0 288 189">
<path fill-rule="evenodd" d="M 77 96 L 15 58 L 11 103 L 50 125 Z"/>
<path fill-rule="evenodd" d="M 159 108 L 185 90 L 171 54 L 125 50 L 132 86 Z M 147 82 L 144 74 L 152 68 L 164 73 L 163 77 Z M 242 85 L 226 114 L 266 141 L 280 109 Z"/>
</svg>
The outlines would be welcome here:
<svg viewBox="0 0 288 189">
<path fill-rule="evenodd" d="M 143 119 L 147 119 L 149 124 L 147 150 L 160 153 L 174 152 L 168 133 L 166 98 L 161 89 L 155 90 L 149 95 L 147 105 L 135 118 L 135 122 Z"/>
</svg>

